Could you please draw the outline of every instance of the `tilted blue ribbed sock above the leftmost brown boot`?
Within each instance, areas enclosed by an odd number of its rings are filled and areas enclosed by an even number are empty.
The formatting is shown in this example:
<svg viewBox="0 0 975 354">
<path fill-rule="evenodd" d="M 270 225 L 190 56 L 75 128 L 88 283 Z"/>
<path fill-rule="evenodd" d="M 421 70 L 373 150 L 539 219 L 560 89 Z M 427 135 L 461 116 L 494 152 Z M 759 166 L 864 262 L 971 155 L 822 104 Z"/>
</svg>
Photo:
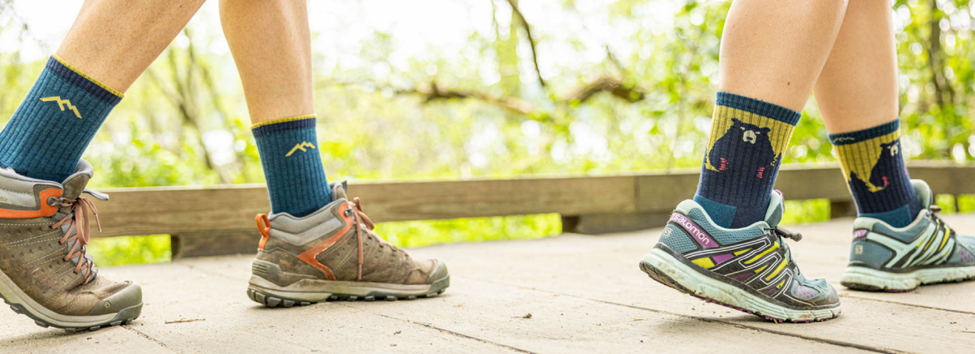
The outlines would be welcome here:
<svg viewBox="0 0 975 354">
<path fill-rule="evenodd" d="M 63 181 L 121 100 L 122 92 L 51 56 L 0 131 L 0 165 L 27 177 Z"/>
</svg>

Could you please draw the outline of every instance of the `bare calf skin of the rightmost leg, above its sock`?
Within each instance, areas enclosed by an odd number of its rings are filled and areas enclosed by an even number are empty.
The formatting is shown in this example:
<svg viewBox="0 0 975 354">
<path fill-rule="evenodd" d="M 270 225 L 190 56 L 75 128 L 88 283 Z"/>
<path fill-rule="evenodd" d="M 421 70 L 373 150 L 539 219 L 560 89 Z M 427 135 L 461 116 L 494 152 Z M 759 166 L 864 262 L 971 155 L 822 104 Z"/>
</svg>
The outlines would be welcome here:
<svg viewBox="0 0 975 354">
<path fill-rule="evenodd" d="M 850 3 L 815 92 L 831 134 L 897 118 L 897 54 L 889 1 Z"/>
</svg>

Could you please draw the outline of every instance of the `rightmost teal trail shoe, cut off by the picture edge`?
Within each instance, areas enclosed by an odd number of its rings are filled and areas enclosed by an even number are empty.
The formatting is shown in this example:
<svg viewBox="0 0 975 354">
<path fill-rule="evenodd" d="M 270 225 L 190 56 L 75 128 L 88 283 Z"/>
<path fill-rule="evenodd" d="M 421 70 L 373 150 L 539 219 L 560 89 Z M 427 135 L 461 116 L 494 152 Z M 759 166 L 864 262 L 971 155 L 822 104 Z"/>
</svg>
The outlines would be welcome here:
<svg viewBox="0 0 975 354">
<path fill-rule="evenodd" d="M 856 290 L 908 292 L 921 284 L 975 277 L 975 237 L 958 236 L 934 213 L 931 188 L 912 180 L 921 211 L 914 223 L 893 228 L 868 217 L 853 221 L 850 263 L 840 284 Z"/>
</svg>

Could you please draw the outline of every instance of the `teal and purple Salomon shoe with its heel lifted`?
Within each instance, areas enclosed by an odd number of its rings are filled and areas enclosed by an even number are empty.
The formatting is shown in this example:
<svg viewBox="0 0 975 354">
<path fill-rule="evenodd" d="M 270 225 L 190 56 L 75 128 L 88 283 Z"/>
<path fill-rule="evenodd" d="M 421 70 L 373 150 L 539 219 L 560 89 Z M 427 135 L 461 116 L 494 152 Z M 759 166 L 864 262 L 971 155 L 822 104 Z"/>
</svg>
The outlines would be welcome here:
<svg viewBox="0 0 975 354">
<path fill-rule="evenodd" d="M 778 226 L 783 206 L 782 196 L 772 193 L 764 221 L 724 229 L 700 204 L 684 200 L 640 268 L 684 294 L 773 322 L 835 318 L 836 290 L 826 280 L 806 279 L 792 259 L 783 238 L 801 235 Z"/>
</svg>

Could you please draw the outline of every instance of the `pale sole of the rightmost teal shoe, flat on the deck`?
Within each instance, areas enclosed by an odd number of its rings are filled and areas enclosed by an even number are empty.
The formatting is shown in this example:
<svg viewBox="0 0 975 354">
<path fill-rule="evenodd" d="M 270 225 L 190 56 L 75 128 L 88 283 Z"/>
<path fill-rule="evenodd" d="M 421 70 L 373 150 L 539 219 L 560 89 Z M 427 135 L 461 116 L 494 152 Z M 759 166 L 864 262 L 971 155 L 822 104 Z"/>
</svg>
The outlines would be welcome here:
<svg viewBox="0 0 975 354">
<path fill-rule="evenodd" d="M 975 265 L 946 266 L 893 273 L 866 266 L 847 266 L 842 283 L 865 284 L 880 289 L 911 290 L 921 284 L 941 283 L 975 277 Z"/>
</svg>

